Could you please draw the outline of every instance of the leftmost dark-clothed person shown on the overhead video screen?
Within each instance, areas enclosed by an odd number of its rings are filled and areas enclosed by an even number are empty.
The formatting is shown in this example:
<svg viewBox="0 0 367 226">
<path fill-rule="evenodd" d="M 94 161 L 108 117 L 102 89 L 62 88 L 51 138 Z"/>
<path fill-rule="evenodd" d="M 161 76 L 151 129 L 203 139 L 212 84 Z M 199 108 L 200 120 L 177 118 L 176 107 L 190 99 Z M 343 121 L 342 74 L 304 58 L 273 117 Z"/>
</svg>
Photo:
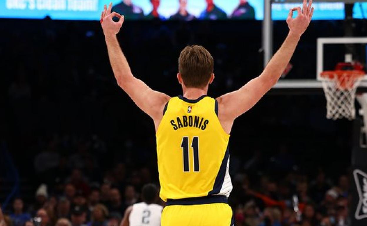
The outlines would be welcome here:
<svg viewBox="0 0 367 226">
<path fill-rule="evenodd" d="M 132 4 L 131 0 L 123 0 L 114 5 L 112 11 L 124 15 L 127 20 L 144 19 L 142 8 Z"/>
</svg>

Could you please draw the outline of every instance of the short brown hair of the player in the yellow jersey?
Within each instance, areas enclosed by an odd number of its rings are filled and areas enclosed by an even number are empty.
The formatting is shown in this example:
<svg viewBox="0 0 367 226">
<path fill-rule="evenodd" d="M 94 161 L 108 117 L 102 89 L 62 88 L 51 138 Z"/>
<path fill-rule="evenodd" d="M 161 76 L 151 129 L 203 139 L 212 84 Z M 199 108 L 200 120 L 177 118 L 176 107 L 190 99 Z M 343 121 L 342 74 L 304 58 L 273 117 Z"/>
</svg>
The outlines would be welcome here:
<svg viewBox="0 0 367 226">
<path fill-rule="evenodd" d="M 188 88 L 204 88 L 213 73 L 214 60 L 200 45 L 187 46 L 180 53 L 178 72 Z"/>
</svg>

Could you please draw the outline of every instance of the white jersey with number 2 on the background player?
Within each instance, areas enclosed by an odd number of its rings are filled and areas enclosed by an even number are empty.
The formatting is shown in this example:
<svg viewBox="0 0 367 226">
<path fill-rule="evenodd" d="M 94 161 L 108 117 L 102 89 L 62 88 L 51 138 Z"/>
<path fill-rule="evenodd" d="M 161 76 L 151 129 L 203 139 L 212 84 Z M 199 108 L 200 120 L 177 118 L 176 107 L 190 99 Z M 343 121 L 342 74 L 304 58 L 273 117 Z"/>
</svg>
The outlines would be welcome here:
<svg viewBox="0 0 367 226">
<path fill-rule="evenodd" d="M 157 204 L 136 203 L 129 216 L 130 226 L 160 226 L 163 207 Z"/>
</svg>

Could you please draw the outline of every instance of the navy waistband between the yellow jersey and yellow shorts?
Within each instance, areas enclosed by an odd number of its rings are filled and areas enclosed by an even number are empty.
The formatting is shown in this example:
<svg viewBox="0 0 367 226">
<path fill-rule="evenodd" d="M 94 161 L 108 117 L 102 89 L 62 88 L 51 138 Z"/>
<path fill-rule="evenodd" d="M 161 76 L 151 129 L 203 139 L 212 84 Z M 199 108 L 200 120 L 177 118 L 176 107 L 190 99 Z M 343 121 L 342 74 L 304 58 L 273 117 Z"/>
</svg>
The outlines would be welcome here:
<svg viewBox="0 0 367 226">
<path fill-rule="evenodd" d="M 227 197 L 223 195 L 213 195 L 186 199 L 167 199 L 167 205 L 203 205 L 211 203 L 228 203 Z"/>
</svg>

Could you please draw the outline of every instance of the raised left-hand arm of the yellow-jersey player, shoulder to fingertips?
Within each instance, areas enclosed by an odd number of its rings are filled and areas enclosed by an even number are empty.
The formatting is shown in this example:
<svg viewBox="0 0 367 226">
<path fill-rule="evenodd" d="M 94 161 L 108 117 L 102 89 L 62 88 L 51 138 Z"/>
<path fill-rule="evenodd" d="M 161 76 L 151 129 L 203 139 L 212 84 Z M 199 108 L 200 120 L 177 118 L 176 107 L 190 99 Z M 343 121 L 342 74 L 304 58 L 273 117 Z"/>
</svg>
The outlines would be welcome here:
<svg viewBox="0 0 367 226">
<path fill-rule="evenodd" d="M 164 106 L 170 97 L 150 89 L 144 82 L 132 75 L 129 64 L 121 51 L 116 37 L 124 22 L 124 16 L 116 12 L 111 13 L 111 8 L 112 4 L 108 8 L 105 5 L 101 15 L 101 24 L 103 33 L 105 34 L 108 56 L 117 84 L 119 84 L 141 110 L 153 118 L 157 129 L 163 116 Z M 112 20 L 114 16 L 119 18 L 118 22 Z"/>
</svg>

